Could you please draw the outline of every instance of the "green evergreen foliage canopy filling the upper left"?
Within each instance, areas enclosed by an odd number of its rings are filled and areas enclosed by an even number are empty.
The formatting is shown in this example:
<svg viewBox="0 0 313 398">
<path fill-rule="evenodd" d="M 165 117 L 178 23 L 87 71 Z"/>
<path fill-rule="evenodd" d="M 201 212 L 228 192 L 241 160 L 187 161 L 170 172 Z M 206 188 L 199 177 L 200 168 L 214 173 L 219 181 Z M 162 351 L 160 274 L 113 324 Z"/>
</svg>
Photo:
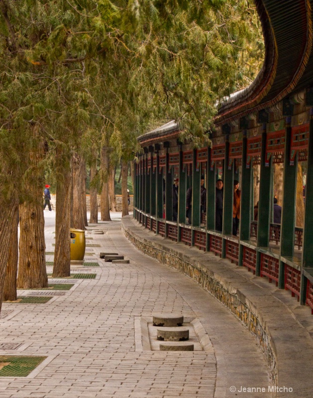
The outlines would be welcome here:
<svg viewBox="0 0 313 398">
<path fill-rule="evenodd" d="M 163 119 L 199 145 L 217 101 L 247 86 L 263 61 L 258 17 L 244 0 L 1 4 L 2 199 L 24 198 L 27 174 L 38 184 L 43 170 L 62 176 L 73 152 L 91 165 L 104 145 L 113 165 L 132 160 L 136 137 Z"/>
</svg>

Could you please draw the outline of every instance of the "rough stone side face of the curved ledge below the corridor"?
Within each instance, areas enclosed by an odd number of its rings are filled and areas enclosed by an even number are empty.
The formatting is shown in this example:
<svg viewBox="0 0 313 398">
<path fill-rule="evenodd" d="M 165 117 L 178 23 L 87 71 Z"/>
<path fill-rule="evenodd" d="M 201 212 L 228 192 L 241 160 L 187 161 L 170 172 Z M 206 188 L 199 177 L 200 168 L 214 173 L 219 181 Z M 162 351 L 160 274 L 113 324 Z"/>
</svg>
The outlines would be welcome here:
<svg viewBox="0 0 313 398">
<path fill-rule="evenodd" d="M 245 302 L 245 298 L 240 293 L 231 291 L 231 289 L 223 284 L 222 280 L 218 280 L 213 275 L 210 275 L 207 267 L 203 266 L 197 260 L 195 261 L 191 257 L 188 257 L 186 253 L 182 254 L 174 251 L 172 248 L 167 248 L 161 242 L 156 243 L 155 239 L 152 244 L 148 239 L 136 234 L 132 230 L 131 225 L 129 225 L 129 217 L 122 218 L 122 231 L 126 238 L 142 253 L 189 276 L 226 306 L 256 337 L 266 357 L 273 381 L 277 385 L 275 347 L 272 347 L 271 338 L 265 326 L 262 325 L 261 320 L 256 315 L 257 311 Z"/>
</svg>

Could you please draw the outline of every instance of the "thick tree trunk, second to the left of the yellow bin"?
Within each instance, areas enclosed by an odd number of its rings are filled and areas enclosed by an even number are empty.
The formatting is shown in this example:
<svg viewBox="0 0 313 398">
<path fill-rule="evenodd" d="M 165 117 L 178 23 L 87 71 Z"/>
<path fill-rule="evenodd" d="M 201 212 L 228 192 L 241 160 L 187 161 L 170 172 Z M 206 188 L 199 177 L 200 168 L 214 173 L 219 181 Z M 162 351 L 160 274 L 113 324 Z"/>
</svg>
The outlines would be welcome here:
<svg viewBox="0 0 313 398">
<path fill-rule="evenodd" d="M 26 187 L 27 185 L 33 201 L 19 206 L 17 289 L 47 288 L 42 189 L 33 187 L 30 181 L 25 183 Z"/>
</svg>

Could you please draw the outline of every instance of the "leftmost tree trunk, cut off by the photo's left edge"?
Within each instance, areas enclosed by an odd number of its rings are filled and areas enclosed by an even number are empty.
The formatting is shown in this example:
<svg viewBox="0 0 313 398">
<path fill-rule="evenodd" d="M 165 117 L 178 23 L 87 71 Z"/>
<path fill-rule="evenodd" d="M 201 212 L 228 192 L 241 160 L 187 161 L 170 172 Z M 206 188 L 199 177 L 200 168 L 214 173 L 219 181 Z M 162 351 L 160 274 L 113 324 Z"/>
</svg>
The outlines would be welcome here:
<svg viewBox="0 0 313 398">
<path fill-rule="evenodd" d="M 0 202 L 0 312 L 5 280 L 5 271 L 10 253 L 12 229 L 16 216 L 17 199 L 11 198 L 9 203 Z"/>
</svg>

